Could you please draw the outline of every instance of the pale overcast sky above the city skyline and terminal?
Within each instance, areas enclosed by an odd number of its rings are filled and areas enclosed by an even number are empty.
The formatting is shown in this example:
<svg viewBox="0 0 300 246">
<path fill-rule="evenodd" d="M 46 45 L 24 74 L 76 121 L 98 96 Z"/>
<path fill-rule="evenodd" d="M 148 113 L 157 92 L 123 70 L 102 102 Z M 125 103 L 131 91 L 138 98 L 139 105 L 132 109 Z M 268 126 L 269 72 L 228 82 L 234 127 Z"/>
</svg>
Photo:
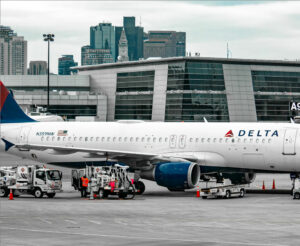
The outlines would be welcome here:
<svg viewBox="0 0 300 246">
<path fill-rule="evenodd" d="M 1 1 L 1 0 L 0 0 Z M 89 27 L 122 26 L 123 16 L 149 30 L 184 31 L 187 51 L 206 57 L 300 59 L 298 1 L 1 1 L 1 24 L 28 41 L 28 63 L 47 60 L 43 33 L 54 33 L 51 72 L 58 58 L 89 44 Z"/>
</svg>

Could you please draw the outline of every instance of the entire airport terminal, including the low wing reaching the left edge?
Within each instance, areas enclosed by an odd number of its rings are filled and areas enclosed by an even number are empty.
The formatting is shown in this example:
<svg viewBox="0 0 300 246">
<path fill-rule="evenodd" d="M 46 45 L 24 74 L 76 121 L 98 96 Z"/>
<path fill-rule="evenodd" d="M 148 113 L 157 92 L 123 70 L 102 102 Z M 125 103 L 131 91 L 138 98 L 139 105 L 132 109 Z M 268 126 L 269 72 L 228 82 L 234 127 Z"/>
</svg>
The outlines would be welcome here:
<svg viewBox="0 0 300 246">
<path fill-rule="evenodd" d="M 68 120 L 287 122 L 300 109 L 297 61 L 175 57 L 76 69 L 50 76 L 50 111 Z M 46 75 L 0 80 L 22 108 L 47 105 Z"/>
</svg>

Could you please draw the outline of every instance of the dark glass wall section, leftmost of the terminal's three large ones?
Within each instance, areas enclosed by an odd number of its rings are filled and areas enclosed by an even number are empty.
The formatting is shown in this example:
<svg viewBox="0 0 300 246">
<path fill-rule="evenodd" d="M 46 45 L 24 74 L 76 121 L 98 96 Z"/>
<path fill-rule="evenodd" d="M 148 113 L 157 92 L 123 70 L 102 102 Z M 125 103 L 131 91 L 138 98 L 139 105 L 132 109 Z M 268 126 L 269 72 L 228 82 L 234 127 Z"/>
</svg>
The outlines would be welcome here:
<svg viewBox="0 0 300 246">
<path fill-rule="evenodd" d="M 154 71 L 117 74 L 116 120 L 151 120 Z"/>
</svg>

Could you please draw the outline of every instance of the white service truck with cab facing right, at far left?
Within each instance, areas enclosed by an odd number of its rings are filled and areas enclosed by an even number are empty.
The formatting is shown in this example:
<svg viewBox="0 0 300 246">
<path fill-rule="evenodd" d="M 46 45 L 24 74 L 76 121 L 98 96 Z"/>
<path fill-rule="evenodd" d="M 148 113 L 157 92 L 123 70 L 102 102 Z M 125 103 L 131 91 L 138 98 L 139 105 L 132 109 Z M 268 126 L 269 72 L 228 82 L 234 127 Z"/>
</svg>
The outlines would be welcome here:
<svg viewBox="0 0 300 246">
<path fill-rule="evenodd" d="M 7 197 L 12 190 L 15 196 L 31 194 L 36 198 L 46 194 L 53 198 L 62 191 L 62 173 L 35 165 L 24 165 L 0 169 L 0 196 Z"/>
</svg>

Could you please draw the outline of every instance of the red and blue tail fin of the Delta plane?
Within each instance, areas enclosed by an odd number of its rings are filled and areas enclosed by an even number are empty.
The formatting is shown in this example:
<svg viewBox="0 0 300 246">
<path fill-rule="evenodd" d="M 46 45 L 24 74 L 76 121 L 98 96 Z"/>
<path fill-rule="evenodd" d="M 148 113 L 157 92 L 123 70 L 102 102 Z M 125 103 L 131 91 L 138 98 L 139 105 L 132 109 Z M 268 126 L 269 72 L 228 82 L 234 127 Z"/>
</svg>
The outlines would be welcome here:
<svg viewBox="0 0 300 246">
<path fill-rule="evenodd" d="M 0 81 L 0 123 L 35 122 L 17 104 L 11 93 Z"/>
</svg>

